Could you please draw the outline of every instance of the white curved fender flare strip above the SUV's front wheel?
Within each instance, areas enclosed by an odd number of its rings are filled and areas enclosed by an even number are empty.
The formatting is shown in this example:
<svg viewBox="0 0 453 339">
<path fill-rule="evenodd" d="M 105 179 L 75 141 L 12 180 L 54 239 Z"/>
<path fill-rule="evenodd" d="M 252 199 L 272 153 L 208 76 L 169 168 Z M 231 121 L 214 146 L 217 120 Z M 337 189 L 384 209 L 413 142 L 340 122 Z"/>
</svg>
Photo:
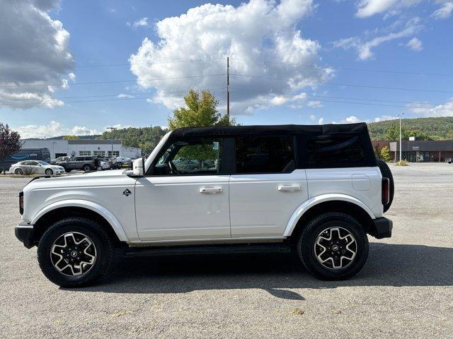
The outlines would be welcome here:
<svg viewBox="0 0 453 339">
<path fill-rule="evenodd" d="M 45 208 L 42 208 L 38 213 L 36 213 L 35 217 L 33 218 L 33 220 L 31 220 L 30 224 L 35 225 L 35 223 L 38 222 L 38 220 L 40 220 L 42 215 L 49 213 L 51 210 L 56 210 L 57 208 L 62 208 L 62 207 L 87 208 L 88 210 L 92 210 L 93 212 L 98 213 L 105 220 L 107 220 L 107 222 L 110 224 L 110 227 L 112 227 L 113 232 L 115 232 L 118 239 L 120 239 L 120 242 L 128 241 L 126 233 L 123 230 L 120 222 L 115 217 L 115 215 L 113 215 L 113 213 L 111 213 L 110 210 L 99 205 L 98 203 L 93 203 L 92 201 L 87 201 L 87 200 L 68 199 L 68 200 L 57 201 L 55 203 L 51 203 L 50 205 L 45 206 Z"/>
</svg>

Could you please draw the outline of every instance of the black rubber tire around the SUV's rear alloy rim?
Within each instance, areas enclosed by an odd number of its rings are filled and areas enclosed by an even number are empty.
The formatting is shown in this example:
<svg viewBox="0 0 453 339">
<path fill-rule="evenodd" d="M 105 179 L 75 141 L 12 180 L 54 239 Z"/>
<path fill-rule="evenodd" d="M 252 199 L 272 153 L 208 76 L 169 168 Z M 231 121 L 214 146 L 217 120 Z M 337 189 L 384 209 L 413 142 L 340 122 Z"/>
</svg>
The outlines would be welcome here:
<svg viewBox="0 0 453 339">
<path fill-rule="evenodd" d="M 345 266 L 343 268 L 328 268 L 326 266 L 328 266 L 331 261 L 325 261 L 326 264 L 324 265 L 316 257 L 316 253 L 319 254 L 319 251 L 322 251 L 322 247 L 320 249 L 316 246 L 316 239 L 319 239 L 321 233 L 323 233 L 323 231 L 327 232 L 331 227 L 333 227 L 333 229 L 339 227 L 340 230 L 342 230 L 341 232 L 347 231 L 352 234 L 353 239 L 355 239 L 355 245 L 352 244 L 352 246 L 354 246 L 352 249 L 355 249 L 354 256 L 345 253 L 344 244 L 337 245 L 338 251 L 343 251 L 343 254 L 340 253 L 338 256 L 347 255 L 352 258 L 351 261 L 345 260 Z M 331 235 L 331 239 L 333 239 L 333 235 Z M 351 238 L 348 237 L 345 239 L 345 241 L 348 242 Z M 335 246 L 335 244 L 333 244 L 333 246 Z M 326 245 L 326 253 L 328 256 L 330 256 L 328 251 L 331 250 L 334 251 L 333 249 L 329 249 Z M 306 225 L 297 241 L 297 253 L 306 269 L 316 278 L 322 280 L 348 279 L 357 274 L 367 261 L 368 238 L 363 227 L 350 215 L 343 213 L 325 213 L 314 218 Z M 335 252 L 332 253 L 334 253 L 332 257 L 338 258 Z M 334 259 L 332 258 L 332 262 L 333 260 Z M 342 261 L 343 259 L 341 259 L 340 265 Z"/>
</svg>

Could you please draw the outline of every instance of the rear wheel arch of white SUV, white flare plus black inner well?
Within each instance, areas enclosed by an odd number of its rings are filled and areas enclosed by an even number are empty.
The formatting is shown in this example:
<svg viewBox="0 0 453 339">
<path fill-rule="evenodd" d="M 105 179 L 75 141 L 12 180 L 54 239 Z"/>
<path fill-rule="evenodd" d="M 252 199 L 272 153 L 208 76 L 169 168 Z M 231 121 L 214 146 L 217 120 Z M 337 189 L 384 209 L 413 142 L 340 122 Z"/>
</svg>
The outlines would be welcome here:
<svg viewBox="0 0 453 339">
<path fill-rule="evenodd" d="M 299 234 L 309 220 L 314 216 L 327 213 L 339 212 L 351 215 L 369 232 L 372 220 L 375 219 L 372 210 L 365 203 L 345 194 L 324 194 L 315 196 L 302 203 L 292 214 L 285 228 L 285 237 L 294 237 Z"/>
</svg>

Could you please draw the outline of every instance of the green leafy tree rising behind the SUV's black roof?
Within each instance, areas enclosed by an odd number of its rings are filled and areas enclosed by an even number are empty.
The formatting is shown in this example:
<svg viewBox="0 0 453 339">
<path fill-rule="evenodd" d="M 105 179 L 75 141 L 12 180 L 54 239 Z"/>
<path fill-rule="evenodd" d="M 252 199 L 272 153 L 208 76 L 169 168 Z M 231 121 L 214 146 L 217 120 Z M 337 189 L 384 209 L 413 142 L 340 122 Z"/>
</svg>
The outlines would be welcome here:
<svg viewBox="0 0 453 339">
<path fill-rule="evenodd" d="M 186 107 L 173 111 L 173 117 L 168 118 L 168 129 L 197 126 L 230 126 L 236 124 L 234 119 L 228 119 L 217 111 L 219 100 L 209 91 L 190 90 L 184 97 Z"/>
</svg>

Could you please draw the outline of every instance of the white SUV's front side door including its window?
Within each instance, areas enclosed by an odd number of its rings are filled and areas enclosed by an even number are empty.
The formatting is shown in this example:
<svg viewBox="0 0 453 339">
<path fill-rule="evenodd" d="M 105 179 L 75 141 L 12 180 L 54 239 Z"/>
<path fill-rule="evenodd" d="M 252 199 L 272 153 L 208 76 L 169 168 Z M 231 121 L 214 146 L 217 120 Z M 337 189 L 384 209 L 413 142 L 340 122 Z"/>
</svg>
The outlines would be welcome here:
<svg viewBox="0 0 453 339">
<path fill-rule="evenodd" d="M 221 138 L 169 140 L 137 180 L 135 208 L 142 241 L 229 238 L 229 175 Z"/>
</svg>

